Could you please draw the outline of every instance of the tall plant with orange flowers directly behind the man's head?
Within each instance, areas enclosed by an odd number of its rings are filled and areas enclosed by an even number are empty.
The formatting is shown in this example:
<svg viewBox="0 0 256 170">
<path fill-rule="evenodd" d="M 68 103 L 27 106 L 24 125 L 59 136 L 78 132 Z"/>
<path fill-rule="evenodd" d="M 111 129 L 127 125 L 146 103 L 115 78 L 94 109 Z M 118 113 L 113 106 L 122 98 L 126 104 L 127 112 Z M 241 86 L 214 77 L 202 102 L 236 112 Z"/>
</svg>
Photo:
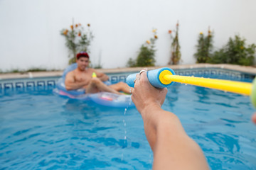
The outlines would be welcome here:
<svg viewBox="0 0 256 170">
<path fill-rule="evenodd" d="M 81 51 L 90 52 L 89 46 L 93 39 L 92 32 L 90 31 L 90 24 L 87 24 L 87 30 L 85 30 L 80 23 L 73 24 L 69 29 L 63 29 L 60 34 L 65 37 L 65 45 L 70 50 L 71 59 L 69 64 L 75 62 L 76 54 Z"/>
</svg>

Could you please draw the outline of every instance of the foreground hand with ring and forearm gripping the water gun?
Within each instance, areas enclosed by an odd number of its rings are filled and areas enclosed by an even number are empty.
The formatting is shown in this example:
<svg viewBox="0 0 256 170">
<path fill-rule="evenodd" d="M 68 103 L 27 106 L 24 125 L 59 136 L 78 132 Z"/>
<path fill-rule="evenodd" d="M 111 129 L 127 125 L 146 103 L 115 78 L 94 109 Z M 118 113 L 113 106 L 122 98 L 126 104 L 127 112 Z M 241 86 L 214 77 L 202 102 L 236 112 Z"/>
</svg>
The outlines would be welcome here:
<svg viewBox="0 0 256 170">
<path fill-rule="evenodd" d="M 146 139 L 154 153 L 153 169 L 208 169 L 201 148 L 188 137 L 178 117 L 161 109 L 166 94 L 166 88 L 149 84 L 145 72 L 137 75 L 132 101 L 142 115 Z"/>
</svg>

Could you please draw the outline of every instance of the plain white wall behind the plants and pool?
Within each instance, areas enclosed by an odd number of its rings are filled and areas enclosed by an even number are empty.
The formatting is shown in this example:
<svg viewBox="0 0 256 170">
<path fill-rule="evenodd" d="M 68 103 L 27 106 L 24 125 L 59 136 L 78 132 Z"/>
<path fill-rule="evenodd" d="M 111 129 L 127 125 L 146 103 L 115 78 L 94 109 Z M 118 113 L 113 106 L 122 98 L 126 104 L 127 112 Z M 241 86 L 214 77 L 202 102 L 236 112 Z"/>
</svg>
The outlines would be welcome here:
<svg viewBox="0 0 256 170">
<path fill-rule="evenodd" d="M 256 43 L 255 0 L 0 0 L 0 69 L 64 69 L 68 49 L 62 28 L 90 23 L 95 39 L 92 63 L 101 56 L 104 68 L 125 67 L 157 28 L 156 64 L 169 62 L 168 30 L 180 23 L 181 64 L 193 64 L 198 33 L 214 30 L 222 47 L 240 34 Z"/>
</svg>

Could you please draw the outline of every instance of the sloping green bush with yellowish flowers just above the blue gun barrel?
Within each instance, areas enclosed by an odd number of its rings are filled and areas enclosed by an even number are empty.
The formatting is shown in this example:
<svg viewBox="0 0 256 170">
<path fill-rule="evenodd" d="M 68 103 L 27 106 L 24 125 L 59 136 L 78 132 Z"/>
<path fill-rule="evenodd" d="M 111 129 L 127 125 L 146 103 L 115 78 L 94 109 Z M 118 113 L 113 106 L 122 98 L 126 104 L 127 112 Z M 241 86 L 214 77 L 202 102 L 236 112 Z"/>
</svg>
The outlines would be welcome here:
<svg viewBox="0 0 256 170">
<path fill-rule="evenodd" d="M 139 55 L 136 60 L 129 58 L 127 62 L 128 67 L 149 67 L 154 66 L 155 60 L 155 42 L 157 40 L 156 29 L 153 29 L 153 38 L 146 40 L 139 49 Z"/>
</svg>

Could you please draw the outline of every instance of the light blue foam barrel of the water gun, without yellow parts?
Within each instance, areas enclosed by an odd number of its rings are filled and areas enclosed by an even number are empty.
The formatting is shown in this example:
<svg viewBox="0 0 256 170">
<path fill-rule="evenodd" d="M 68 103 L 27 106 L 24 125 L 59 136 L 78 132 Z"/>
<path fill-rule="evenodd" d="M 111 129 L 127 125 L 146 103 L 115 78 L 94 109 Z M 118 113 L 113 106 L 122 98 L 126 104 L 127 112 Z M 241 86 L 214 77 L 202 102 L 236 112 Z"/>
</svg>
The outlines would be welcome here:
<svg viewBox="0 0 256 170">
<path fill-rule="evenodd" d="M 159 76 L 161 74 L 161 72 L 168 70 L 170 71 L 173 75 L 175 75 L 174 70 L 168 68 L 168 67 L 164 67 L 164 68 L 160 68 L 160 69 L 153 69 L 150 70 L 148 72 L 146 72 L 146 76 L 149 79 L 149 82 L 152 86 L 156 87 L 156 88 L 164 88 L 164 87 L 168 87 L 171 86 L 171 84 L 174 84 L 174 82 L 171 82 L 170 84 L 162 84 Z M 136 74 L 130 74 L 127 79 L 126 79 L 126 83 L 130 86 L 130 87 L 134 87 L 134 80 L 136 79 Z"/>
</svg>

